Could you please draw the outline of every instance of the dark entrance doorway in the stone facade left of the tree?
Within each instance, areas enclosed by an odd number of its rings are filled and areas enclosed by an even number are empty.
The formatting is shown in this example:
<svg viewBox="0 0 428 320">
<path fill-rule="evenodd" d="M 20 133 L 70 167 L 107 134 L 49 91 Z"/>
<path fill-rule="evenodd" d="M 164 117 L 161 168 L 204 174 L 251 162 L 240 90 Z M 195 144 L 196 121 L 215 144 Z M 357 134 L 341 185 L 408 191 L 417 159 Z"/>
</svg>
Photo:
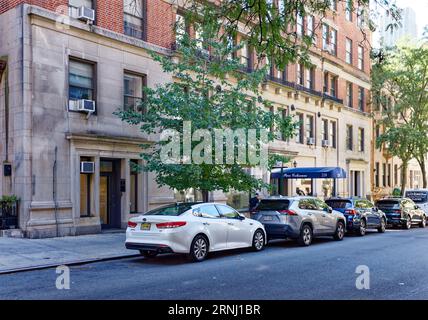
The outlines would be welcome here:
<svg viewBox="0 0 428 320">
<path fill-rule="evenodd" d="M 100 160 L 101 228 L 121 227 L 120 160 Z"/>
</svg>

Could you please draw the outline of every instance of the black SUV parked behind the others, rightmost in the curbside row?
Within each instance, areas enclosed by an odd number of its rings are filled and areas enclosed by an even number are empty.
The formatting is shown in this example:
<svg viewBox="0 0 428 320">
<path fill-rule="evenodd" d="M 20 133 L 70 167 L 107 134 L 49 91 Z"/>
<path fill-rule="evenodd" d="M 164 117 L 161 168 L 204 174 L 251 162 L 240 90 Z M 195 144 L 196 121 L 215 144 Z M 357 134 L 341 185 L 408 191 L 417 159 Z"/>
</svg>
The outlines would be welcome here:
<svg viewBox="0 0 428 320">
<path fill-rule="evenodd" d="M 393 227 L 410 229 L 417 224 L 421 228 L 426 225 L 426 213 L 408 198 L 385 198 L 378 200 L 376 206 L 385 212 L 387 222 Z"/>
</svg>

